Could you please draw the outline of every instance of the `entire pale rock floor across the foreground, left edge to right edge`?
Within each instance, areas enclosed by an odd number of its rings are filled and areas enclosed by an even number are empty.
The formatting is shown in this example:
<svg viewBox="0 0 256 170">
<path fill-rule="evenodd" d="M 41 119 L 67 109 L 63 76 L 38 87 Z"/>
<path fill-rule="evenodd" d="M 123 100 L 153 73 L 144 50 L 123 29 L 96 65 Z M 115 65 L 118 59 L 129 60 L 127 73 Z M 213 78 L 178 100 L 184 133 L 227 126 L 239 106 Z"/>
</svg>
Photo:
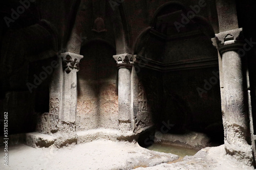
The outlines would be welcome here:
<svg viewBox="0 0 256 170">
<path fill-rule="evenodd" d="M 0 157 L 4 156 L 1 147 Z M 9 166 L 0 169 L 253 169 L 224 154 L 224 147 L 205 148 L 195 156 L 178 156 L 150 151 L 137 143 L 96 140 L 66 148 L 32 148 L 13 145 L 8 151 Z M 178 159 L 178 160 L 177 160 Z"/>
</svg>

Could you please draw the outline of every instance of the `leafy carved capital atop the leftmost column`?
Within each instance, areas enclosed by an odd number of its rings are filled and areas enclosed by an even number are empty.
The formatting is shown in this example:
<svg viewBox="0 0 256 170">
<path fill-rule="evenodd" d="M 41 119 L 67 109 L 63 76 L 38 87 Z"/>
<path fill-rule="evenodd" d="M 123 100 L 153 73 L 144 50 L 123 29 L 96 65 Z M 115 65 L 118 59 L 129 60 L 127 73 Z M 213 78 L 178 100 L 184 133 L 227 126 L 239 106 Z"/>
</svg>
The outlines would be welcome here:
<svg viewBox="0 0 256 170">
<path fill-rule="evenodd" d="M 63 69 L 67 72 L 67 74 L 69 74 L 72 70 L 79 70 L 80 60 L 83 58 L 83 56 L 75 53 L 61 53 L 60 57 L 62 60 Z"/>
</svg>

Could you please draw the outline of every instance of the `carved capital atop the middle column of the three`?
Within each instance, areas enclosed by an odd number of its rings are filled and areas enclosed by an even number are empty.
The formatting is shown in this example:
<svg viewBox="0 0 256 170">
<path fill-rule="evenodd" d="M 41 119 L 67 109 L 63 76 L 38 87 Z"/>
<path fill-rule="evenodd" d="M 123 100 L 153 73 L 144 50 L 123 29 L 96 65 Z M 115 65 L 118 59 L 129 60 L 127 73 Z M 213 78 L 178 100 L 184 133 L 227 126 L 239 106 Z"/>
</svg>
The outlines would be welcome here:
<svg viewBox="0 0 256 170">
<path fill-rule="evenodd" d="M 131 54 L 119 54 L 113 56 L 113 58 L 116 60 L 118 68 L 132 68 L 135 61 L 134 55 Z"/>
</svg>

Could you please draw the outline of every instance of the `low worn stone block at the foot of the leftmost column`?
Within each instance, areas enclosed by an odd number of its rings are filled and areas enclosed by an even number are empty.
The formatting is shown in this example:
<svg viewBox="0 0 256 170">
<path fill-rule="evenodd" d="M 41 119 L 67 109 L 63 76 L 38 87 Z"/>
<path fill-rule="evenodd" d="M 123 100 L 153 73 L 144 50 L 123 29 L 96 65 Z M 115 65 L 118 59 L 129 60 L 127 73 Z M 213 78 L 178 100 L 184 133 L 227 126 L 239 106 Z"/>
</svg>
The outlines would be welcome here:
<svg viewBox="0 0 256 170">
<path fill-rule="evenodd" d="M 50 147 L 55 142 L 56 138 L 50 135 L 32 132 L 26 134 L 26 144 L 33 148 Z"/>
</svg>

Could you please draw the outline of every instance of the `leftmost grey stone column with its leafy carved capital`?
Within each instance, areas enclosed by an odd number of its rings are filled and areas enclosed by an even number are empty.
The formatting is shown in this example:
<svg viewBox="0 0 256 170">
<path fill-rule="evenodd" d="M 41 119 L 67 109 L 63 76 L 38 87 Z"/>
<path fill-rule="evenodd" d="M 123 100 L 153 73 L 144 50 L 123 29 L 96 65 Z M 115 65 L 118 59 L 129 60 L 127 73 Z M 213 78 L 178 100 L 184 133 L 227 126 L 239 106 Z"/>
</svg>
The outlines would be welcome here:
<svg viewBox="0 0 256 170">
<path fill-rule="evenodd" d="M 75 123 L 77 106 L 77 71 L 83 56 L 74 53 L 61 53 L 63 66 L 62 113 L 61 121 Z"/>
</svg>

